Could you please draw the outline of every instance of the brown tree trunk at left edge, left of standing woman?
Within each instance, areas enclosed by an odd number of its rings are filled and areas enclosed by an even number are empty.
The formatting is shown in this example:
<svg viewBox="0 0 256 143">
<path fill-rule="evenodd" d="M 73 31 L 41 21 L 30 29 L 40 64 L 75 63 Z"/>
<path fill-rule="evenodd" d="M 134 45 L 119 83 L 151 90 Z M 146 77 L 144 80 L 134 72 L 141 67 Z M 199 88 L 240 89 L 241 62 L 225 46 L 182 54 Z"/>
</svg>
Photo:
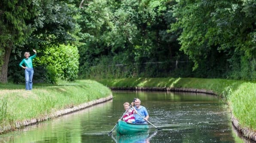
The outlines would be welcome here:
<svg viewBox="0 0 256 143">
<path fill-rule="evenodd" d="M 8 72 L 8 64 L 9 64 L 9 58 L 11 55 L 13 43 L 9 42 L 8 47 L 4 47 L 4 55 L 3 55 L 3 65 L 1 67 L 1 74 L 0 74 L 0 82 L 6 83 L 7 82 L 7 72 Z"/>
</svg>

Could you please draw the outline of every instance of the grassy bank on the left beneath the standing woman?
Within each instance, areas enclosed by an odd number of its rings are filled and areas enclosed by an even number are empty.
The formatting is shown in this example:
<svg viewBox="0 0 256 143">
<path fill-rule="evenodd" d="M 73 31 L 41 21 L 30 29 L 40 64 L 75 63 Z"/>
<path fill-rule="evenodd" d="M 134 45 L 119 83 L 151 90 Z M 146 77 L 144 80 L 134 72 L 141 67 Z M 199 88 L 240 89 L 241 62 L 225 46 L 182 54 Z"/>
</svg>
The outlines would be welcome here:
<svg viewBox="0 0 256 143">
<path fill-rule="evenodd" d="M 91 80 L 62 82 L 58 85 L 34 84 L 33 90 L 24 85 L 0 85 L 0 126 L 13 125 L 43 117 L 55 111 L 109 96 L 111 91 Z"/>
</svg>

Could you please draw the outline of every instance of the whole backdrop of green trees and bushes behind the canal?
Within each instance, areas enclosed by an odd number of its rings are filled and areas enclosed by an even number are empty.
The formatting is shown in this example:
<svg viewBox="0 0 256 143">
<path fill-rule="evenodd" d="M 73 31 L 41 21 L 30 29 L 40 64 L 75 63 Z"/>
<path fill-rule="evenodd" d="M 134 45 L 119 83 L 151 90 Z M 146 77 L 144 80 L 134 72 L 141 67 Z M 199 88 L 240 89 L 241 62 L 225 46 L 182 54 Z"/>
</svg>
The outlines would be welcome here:
<svg viewBox="0 0 256 143">
<path fill-rule="evenodd" d="M 78 73 L 256 80 L 255 15 L 255 0 L 4 0 L 0 79 L 9 63 L 9 79 L 22 82 L 18 63 L 35 48 L 44 82 Z"/>
</svg>

